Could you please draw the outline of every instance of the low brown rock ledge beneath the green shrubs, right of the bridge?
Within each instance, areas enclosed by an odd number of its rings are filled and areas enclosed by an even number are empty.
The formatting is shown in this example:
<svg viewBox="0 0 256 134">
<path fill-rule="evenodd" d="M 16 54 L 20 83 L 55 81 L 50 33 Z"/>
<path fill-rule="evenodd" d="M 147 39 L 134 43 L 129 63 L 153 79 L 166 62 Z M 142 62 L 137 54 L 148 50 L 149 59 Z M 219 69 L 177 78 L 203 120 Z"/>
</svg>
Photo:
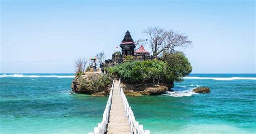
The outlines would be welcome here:
<svg viewBox="0 0 256 134">
<path fill-rule="evenodd" d="M 141 96 L 141 95 L 157 95 L 168 91 L 170 88 L 173 87 L 173 84 L 152 84 L 152 83 L 145 83 L 145 84 L 127 84 L 122 83 L 121 86 L 123 87 L 124 94 L 132 95 L 132 96 Z"/>
</svg>

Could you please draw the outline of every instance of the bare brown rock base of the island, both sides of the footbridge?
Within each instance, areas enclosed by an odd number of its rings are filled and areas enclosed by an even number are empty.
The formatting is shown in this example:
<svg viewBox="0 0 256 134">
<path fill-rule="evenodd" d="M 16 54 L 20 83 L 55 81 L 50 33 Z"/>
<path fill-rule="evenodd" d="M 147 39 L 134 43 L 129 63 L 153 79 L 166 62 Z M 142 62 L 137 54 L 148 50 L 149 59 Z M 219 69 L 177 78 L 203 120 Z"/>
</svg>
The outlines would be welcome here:
<svg viewBox="0 0 256 134">
<path fill-rule="evenodd" d="M 96 96 L 109 95 L 112 84 L 112 78 L 100 73 L 86 72 L 84 75 L 76 76 L 73 79 L 71 88 L 75 93 L 91 94 Z M 166 83 L 145 83 L 145 84 L 129 84 L 121 83 L 126 95 L 157 95 L 168 91 L 173 84 Z"/>
</svg>

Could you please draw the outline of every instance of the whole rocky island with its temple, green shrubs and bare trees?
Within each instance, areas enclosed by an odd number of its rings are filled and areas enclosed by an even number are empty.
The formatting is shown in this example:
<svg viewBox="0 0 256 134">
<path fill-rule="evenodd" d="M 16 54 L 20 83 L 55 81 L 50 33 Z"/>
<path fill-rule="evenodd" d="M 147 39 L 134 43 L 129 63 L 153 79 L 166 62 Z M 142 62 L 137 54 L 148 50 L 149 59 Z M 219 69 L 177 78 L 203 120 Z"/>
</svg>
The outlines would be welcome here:
<svg viewBox="0 0 256 134">
<path fill-rule="evenodd" d="M 152 38 L 133 41 L 127 31 L 120 44 L 122 51 L 114 52 L 112 59 L 105 60 L 101 52 L 91 58 L 87 68 L 87 61 L 76 61 L 72 91 L 109 95 L 112 80 L 120 79 L 126 95 L 157 95 L 169 91 L 174 81 L 182 81 L 184 76 L 191 73 L 192 66 L 185 54 L 174 50 L 192 43 L 187 36 L 159 27 L 149 27 L 144 32 Z M 145 41 L 151 43 L 152 55 L 145 50 Z M 96 63 L 100 64 L 98 69 Z"/>
</svg>

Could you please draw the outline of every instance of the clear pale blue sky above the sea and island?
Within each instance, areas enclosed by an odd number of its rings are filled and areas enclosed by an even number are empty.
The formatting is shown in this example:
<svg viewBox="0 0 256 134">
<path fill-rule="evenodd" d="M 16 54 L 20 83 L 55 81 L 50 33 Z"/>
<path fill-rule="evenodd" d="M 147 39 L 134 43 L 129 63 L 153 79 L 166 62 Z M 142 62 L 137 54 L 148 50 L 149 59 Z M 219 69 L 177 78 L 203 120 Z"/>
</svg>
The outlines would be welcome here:
<svg viewBox="0 0 256 134">
<path fill-rule="evenodd" d="M 148 26 L 189 35 L 192 73 L 256 73 L 254 1 L 21 0 L 1 1 L 0 73 L 73 73 Z"/>
</svg>

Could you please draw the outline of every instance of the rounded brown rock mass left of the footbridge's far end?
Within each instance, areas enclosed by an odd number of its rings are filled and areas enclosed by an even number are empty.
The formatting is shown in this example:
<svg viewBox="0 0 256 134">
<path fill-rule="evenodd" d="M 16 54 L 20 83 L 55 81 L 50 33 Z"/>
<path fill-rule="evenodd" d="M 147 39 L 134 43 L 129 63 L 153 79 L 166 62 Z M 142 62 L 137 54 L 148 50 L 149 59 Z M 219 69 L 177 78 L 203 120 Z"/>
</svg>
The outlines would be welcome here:
<svg viewBox="0 0 256 134">
<path fill-rule="evenodd" d="M 91 94 L 96 96 L 109 95 L 112 79 L 104 74 L 87 72 L 76 76 L 71 84 L 75 93 Z"/>
</svg>

